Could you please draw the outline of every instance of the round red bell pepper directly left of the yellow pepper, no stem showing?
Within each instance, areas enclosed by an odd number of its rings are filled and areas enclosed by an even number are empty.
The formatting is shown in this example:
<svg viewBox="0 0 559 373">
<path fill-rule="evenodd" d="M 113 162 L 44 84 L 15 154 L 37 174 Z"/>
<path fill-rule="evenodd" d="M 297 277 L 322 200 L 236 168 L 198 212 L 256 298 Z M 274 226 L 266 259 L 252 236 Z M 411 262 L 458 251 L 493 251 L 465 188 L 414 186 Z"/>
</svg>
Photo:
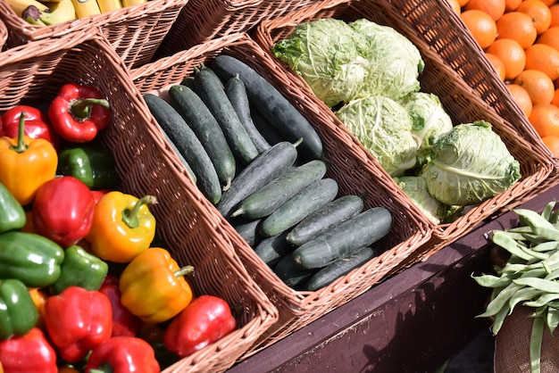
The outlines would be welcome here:
<svg viewBox="0 0 559 373">
<path fill-rule="evenodd" d="M 70 247 L 88 235 L 95 199 L 78 178 L 53 178 L 38 188 L 33 202 L 33 227 L 58 245 Z"/>
</svg>

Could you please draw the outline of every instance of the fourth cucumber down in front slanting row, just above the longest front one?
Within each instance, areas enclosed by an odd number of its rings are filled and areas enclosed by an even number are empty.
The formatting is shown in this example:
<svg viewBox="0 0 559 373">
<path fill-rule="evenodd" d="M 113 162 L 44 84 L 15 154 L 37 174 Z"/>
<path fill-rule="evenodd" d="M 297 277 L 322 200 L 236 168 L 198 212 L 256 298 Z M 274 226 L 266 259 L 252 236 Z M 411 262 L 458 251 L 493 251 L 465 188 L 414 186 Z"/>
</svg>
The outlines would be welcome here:
<svg viewBox="0 0 559 373">
<path fill-rule="evenodd" d="M 353 218 L 361 211 L 363 211 L 363 198 L 359 195 L 341 196 L 307 216 L 291 229 L 286 239 L 292 245 L 303 245 Z"/>
</svg>

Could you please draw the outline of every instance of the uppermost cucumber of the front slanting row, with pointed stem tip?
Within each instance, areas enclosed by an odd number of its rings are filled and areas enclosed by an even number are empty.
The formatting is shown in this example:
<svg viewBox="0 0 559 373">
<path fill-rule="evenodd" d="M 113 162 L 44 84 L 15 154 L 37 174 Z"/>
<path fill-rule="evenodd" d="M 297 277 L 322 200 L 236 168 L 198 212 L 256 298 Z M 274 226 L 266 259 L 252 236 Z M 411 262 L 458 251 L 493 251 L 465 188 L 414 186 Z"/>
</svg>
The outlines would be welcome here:
<svg viewBox="0 0 559 373">
<path fill-rule="evenodd" d="M 297 145 L 288 141 L 273 145 L 241 170 L 216 206 L 221 215 L 229 219 L 238 203 L 287 171 L 296 161 Z"/>
</svg>

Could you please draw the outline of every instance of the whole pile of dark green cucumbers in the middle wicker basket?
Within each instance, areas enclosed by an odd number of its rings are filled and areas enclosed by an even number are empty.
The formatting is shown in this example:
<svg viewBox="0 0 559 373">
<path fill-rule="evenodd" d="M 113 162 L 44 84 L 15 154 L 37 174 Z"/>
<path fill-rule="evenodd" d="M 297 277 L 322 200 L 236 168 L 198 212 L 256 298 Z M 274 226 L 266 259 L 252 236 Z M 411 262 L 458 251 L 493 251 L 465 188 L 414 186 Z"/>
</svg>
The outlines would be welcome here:
<svg viewBox="0 0 559 373">
<path fill-rule="evenodd" d="M 338 197 L 321 138 L 258 72 L 221 54 L 144 95 L 202 194 L 288 286 L 315 291 L 378 255 L 390 211 Z"/>
</svg>

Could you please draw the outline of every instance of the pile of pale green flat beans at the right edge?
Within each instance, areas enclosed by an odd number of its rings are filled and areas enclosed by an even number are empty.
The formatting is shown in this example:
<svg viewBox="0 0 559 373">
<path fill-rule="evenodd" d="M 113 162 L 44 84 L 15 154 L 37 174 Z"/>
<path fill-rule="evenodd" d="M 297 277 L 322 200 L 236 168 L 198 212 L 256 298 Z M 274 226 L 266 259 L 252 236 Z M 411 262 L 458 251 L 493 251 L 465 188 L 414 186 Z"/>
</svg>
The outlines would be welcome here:
<svg viewBox="0 0 559 373">
<path fill-rule="evenodd" d="M 510 256 L 495 274 L 472 278 L 492 288 L 486 311 L 479 318 L 492 318 L 491 331 L 496 335 L 507 315 L 516 305 L 533 309 L 534 322 L 530 335 L 530 371 L 539 373 L 544 328 L 551 333 L 559 324 L 559 212 L 555 201 L 541 212 L 513 210 L 519 225 L 507 230 L 494 230 L 491 241 Z"/>
</svg>

